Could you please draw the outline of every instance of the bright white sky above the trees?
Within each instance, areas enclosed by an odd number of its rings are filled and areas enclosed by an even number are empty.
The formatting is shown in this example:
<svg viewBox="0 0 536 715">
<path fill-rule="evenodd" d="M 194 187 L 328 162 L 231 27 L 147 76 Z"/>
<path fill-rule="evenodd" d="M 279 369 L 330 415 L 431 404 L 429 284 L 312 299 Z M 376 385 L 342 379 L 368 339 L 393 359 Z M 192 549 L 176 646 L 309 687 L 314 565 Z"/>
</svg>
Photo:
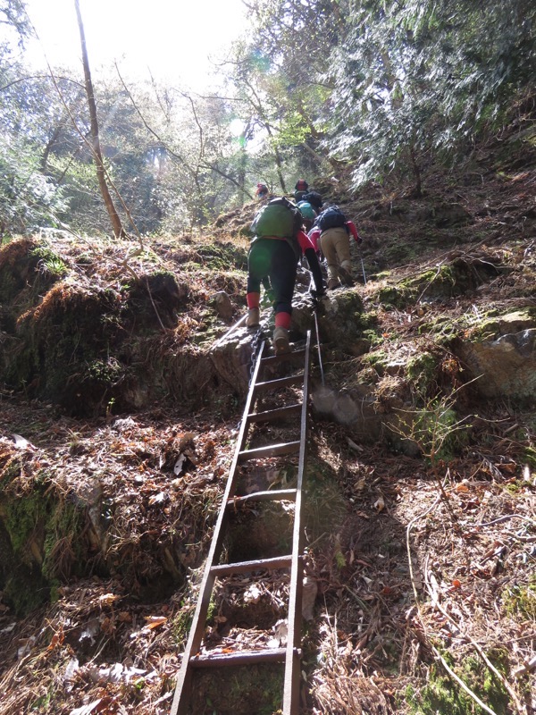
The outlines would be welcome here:
<svg viewBox="0 0 536 715">
<path fill-rule="evenodd" d="M 74 0 L 26 0 L 41 40 L 34 63 L 81 68 Z M 247 29 L 241 0 L 80 0 L 91 70 L 117 61 L 130 79 L 171 80 L 201 90 L 214 71 L 210 57 Z"/>
</svg>

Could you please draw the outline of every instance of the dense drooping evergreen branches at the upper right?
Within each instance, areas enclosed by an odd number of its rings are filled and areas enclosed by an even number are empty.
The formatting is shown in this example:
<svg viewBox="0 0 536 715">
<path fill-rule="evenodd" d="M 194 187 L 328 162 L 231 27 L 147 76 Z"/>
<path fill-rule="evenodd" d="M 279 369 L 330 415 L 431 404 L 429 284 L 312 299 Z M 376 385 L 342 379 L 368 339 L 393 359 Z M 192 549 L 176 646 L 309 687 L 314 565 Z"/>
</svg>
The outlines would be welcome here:
<svg viewBox="0 0 536 715">
<path fill-rule="evenodd" d="M 371 2 L 348 6 L 332 55 L 329 147 L 356 159 L 356 185 L 406 168 L 420 190 L 424 157 L 503 120 L 536 71 L 528 0 Z"/>
</svg>

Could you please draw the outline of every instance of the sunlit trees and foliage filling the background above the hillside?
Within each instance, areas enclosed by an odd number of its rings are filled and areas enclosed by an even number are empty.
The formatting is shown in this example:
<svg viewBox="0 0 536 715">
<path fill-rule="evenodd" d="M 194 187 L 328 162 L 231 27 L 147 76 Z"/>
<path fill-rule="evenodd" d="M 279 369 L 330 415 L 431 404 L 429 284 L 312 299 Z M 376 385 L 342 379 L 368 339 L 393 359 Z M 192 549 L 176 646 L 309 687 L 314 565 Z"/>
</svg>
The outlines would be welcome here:
<svg viewBox="0 0 536 715">
<path fill-rule="evenodd" d="M 473 0 L 248 7 L 230 97 L 96 83 L 106 171 L 129 231 L 197 231 L 252 198 L 256 181 L 278 192 L 298 174 L 331 171 L 326 152 L 351 162 L 355 186 L 411 173 L 420 191 L 424 162 L 451 162 L 534 88 L 529 0 L 492 0 L 485 13 Z M 62 71 L 53 82 L 11 61 L 29 24 L 20 0 L 3 0 L 0 17 L 14 38 L 0 46 L 10 59 L 0 63 L 0 234 L 62 223 L 109 231 L 80 77 Z M 410 248 L 393 251 L 405 260 Z"/>
</svg>

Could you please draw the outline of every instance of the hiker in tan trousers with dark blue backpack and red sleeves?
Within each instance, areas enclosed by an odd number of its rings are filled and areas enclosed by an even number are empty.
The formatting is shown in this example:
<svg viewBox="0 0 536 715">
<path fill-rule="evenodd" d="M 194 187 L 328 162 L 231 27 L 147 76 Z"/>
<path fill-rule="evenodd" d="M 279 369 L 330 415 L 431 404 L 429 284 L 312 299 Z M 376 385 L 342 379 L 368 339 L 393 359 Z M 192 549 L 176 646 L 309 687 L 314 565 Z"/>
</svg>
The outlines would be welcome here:
<svg viewBox="0 0 536 715">
<path fill-rule="evenodd" d="M 350 234 L 358 245 L 362 243 L 355 223 L 348 221 L 338 206 L 330 206 L 322 211 L 316 218 L 313 229 L 309 231 L 309 239 L 314 248 L 320 248 L 326 258 L 330 290 L 339 288 L 341 281 L 348 286 L 354 285 Z"/>
</svg>

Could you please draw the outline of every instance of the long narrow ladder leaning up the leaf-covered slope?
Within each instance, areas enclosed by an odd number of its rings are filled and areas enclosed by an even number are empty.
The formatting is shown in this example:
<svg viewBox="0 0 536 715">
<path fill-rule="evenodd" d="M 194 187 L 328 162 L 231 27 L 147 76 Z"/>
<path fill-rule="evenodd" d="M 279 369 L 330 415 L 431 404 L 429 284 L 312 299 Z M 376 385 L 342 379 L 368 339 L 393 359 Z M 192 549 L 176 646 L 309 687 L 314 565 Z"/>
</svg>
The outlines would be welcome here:
<svg viewBox="0 0 536 715">
<path fill-rule="evenodd" d="M 239 437 L 230 466 L 230 474 L 223 495 L 222 506 L 214 527 L 213 540 L 206 559 L 204 576 L 200 585 L 197 608 L 190 627 L 188 644 L 182 656 L 182 664 L 177 678 L 177 686 L 172 702 L 171 715 L 188 715 L 191 699 L 192 677 L 195 669 L 222 669 L 228 666 L 252 663 L 274 663 L 284 665 L 282 712 L 283 715 L 297 715 L 299 711 L 300 661 L 301 661 L 301 620 L 303 581 L 303 528 L 301 524 L 302 486 L 306 472 L 306 448 L 309 416 L 309 377 L 311 356 L 311 333 L 306 335 L 305 346 L 293 352 L 274 356 L 268 354 L 266 341 L 261 343 L 255 368 L 252 371 L 246 407 L 242 417 Z M 274 380 L 261 380 L 265 367 L 276 367 L 280 363 L 296 362 L 303 359 L 303 370 Z M 276 368 L 277 369 L 277 368 Z M 283 407 L 255 411 L 263 394 L 281 391 L 290 386 L 302 387 L 301 402 Z M 299 435 L 291 442 L 271 444 L 256 449 L 246 449 L 250 427 L 261 423 L 275 423 L 296 417 Z M 249 460 L 297 455 L 297 484 L 295 489 L 257 491 L 237 496 L 237 485 L 241 467 Z M 289 554 L 266 558 L 221 564 L 223 544 L 229 528 L 230 510 L 237 505 L 261 501 L 293 501 L 294 522 L 292 525 L 292 548 Z M 264 648 L 255 651 L 238 651 L 210 654 L 200 653 L 205 633 L 206 618 L 214 590 L 216 578 L 244 574 L 259 569 L 289 569 L 288 636 L 286 647 Z M 194 714 L 195 715 L 195 714 Z"/>
</svg>

